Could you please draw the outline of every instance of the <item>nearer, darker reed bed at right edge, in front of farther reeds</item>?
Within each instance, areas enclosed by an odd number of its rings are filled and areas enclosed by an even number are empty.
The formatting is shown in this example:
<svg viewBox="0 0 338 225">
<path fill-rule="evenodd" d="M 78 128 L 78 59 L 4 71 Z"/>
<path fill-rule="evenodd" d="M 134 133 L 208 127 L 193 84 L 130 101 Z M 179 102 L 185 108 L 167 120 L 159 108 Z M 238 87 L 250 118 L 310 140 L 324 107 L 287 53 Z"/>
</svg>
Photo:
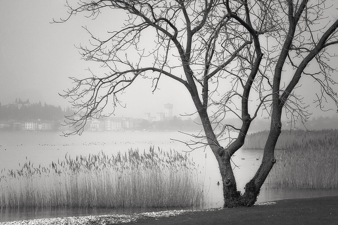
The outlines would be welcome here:
<svg viewBox="0 0 338 225">
<path fill-rule="evenodd" d="M 337 136 L 293 144 L 276 155 L 267 186 L 338 189 L 337 146 Z"/>
</svg>

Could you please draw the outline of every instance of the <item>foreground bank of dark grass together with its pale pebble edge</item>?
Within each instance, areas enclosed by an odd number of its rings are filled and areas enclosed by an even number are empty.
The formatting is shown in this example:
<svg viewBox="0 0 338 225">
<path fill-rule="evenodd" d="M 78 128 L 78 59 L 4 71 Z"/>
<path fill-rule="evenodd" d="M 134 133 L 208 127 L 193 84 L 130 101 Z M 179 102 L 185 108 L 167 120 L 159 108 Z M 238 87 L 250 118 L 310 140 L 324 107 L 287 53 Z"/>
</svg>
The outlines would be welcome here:
<svg viewBox="0 0 338 225">
<path fill-rule="evenodd" d="M 338 196 L 285 199 L 252 207 L 169 210 L 139 214 L 47 218 L 0 225 L 49 224 L 336 224 Z"/>
</svg>

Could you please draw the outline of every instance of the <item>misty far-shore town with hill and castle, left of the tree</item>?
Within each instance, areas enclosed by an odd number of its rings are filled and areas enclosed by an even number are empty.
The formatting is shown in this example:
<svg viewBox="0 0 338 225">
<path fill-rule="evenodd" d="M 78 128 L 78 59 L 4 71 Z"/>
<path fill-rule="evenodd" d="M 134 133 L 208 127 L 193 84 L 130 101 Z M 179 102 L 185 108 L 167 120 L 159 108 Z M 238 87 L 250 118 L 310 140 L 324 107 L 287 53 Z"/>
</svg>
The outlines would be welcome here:
<svg viewBox="0 0 338 225">
<path fill-rule="evenodd" d="M 196 130 L 200 125 L 191 119 L 182 120 L 172 113 L 173 104 L 164 104 L 163 112 L 152 115 L 145 113 L 144 118 L 104 117 L 88 120 L 84 131 L 149 131 L 149 130 Z M 74 115 L 74 111 L 67 107 L 39 103 L 30 103 L 29 99 L 20 98 L 13 103 L 1 105 L 0 102 L 0 131 L 51 132 L 69 131 L 64 116 Z M 75 120 L 80 117 L 75 115 Z"/>
</svg>

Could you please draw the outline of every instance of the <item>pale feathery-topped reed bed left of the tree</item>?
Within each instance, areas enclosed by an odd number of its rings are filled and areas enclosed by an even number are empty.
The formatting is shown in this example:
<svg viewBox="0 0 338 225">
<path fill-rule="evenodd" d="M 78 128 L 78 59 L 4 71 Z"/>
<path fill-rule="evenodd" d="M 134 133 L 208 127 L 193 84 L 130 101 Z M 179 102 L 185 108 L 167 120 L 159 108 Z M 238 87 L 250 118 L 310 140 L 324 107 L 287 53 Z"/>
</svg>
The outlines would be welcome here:
<svg viewBox="0 0 338 225">
<path fill-rule="evenodd" d="M 187 155 L 172 150 L 66 154 L 49 167 L 29 161 L 1 173 L 1 208 L 186 207 L 206 199 L 201 172 Z"/>
</svg>

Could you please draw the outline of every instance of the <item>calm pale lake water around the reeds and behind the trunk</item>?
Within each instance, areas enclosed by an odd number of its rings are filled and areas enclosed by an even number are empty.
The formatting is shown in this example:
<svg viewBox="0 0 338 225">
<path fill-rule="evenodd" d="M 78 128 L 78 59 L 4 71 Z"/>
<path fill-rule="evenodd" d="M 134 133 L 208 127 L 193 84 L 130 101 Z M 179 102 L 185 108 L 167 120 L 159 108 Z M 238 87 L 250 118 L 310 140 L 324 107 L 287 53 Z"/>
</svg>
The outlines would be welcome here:
<svg viewBox="0 0 338 225">
<path fill-rule="evenodd" d="M 125 152 L 128 149 L 148 150 L 150 146 L 156 149 L 160 147 L 165 151 L 190 151 L 185 144 L 173 141 L 191 141 L 191 136 L 179 132 L 84 132 L 81 136 L 60 136 L 60 133 L 0 133 L 0 168 L 18 169 L 19 163 L 23 164 L 27 159 L 35 165 L 41 163 L 48 166 L 51 161 L 62 159 L 68 155 L 97 154 L 103 151 L 107 154 Z M 196 133 L 197 134 L 197 133 Z M 218 164 L 212 151 L 196 149 L 190 152 L 193 161 L 199 167 L 203 167 L 205 173 L 204 185 L 208 191 L 210 203 L 206 208 L 222 207 L 223 193 Z M 206 157 L 207 156 L 207 157 Z M 233 157 L 233 162 L 238 167 L 234 169 L 238 190 L 244 192 L 246 182 L 255 175 L 263 150 L 240 149 Z M 245 158 L 242 160 L 241 158 Z M 338 190 L 293 190 L 293 189 L 265 189 L 264 186 L 258 196 L 258 202 L 273 201 L 288 198 L 308 198 L 319 196 L 338 195 Z M 169 209 L 169 208 L 167 208 Z M 120 208 L 120 209 L 91 209 L 91 208 L 55 208 L 52 210 L 28 210 L 28 209 L 0 209 L 0 221 L 14 221 L 23 219 L 38 219 L 48 217 L 87 216 L 101 214 L 141 213 L 145 211 L 162 211 L 160 209 L 146 208 Z"/>
</svg>

